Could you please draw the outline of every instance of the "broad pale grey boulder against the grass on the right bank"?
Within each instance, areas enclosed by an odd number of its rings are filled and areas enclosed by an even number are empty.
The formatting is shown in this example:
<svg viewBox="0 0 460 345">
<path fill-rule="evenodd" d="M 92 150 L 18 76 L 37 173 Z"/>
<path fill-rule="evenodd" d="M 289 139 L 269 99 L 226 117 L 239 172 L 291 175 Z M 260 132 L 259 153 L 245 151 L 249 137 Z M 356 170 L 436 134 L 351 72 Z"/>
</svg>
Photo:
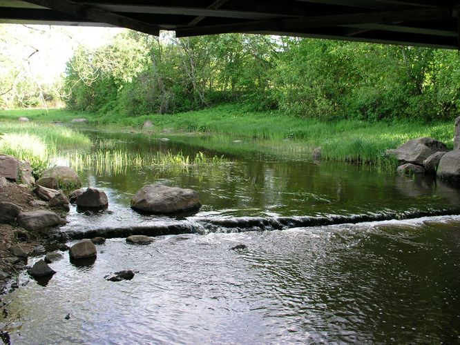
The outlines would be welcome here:
<svg viewBox="0 0 460 345">
<path fill-rule="evenodd" d="M 387 155 L 395 156 L 401 163 L 412 163 L 423 166 L 423 161 L 433 153 L 447 151 L 447 146 L 441 141 L 429 137 L 409 140 L 394 150 L 387 150 Z"/>
</svg>

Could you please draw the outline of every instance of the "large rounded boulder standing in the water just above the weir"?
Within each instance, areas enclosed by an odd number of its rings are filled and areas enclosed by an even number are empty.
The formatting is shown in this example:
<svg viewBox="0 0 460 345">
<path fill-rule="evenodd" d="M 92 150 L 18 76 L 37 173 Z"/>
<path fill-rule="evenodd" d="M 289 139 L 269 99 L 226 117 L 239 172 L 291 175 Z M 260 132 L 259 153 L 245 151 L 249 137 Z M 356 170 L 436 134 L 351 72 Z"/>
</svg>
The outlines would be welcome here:
<svg viewBox="0 0 460 345">
<path fill-rule="evenodd" d="M 145 213 L 171 214 L 201 207 L 195 190 L 149 184 L 142 187 L 131 199 L 131 208 Z"/>
</svg>

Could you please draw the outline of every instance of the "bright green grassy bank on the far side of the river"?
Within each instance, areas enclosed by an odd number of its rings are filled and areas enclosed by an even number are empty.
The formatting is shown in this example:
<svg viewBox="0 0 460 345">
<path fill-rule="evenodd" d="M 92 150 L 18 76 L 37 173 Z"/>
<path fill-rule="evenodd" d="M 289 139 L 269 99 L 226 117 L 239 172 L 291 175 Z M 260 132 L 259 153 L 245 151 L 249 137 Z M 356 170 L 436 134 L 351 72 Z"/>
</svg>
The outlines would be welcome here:
<svg viewBox="0 0 460 345">
<path fill-rule="evenodd" d="M 262 150 L 278 152 L 301 151 L 307 157 L 314 148 L 321 147 L 321 159 L 330 161 L 359 161 L 379 166 L 394 165 L 385 157 L 385 150 L 396 148 L 409 139 L 433 137 L 453 145 L 453 121 L 366 122 L 341 120 L 322 122 L 316 119 L 291 117 L 279 111 L 255 112 L 238 104 L 227 104 L 194 112 L 175 115 L 144 115 L 123 117 L 96 115 L 67 110 L 3 110 L 1 120 L 28 117 L 32 121 L 60 121 L 70 124 L 71 119 L 84 117 L 87 123 L 75 126 L 98 126 L 99 130 L 134 130 L 147 135 L 191 135 L 197 145 L 220 152 L 254 150 L 255 141 Z M 144 126 L 150 121 L 152 126 Z M 213 137 L 219 137 L 213 141 Z M 203 139 L 204 138 L 204 139 Z M 211 138 L 211 139 L 210 139 Z M 222 145 L 223 139 L 228 145 Z M 239 144 L 235 148 L 235 144 Z M 247 144 L 247 147 L 245 147 Z M 259 149 L 259 148 L 257 148 Z"/>
</svg>

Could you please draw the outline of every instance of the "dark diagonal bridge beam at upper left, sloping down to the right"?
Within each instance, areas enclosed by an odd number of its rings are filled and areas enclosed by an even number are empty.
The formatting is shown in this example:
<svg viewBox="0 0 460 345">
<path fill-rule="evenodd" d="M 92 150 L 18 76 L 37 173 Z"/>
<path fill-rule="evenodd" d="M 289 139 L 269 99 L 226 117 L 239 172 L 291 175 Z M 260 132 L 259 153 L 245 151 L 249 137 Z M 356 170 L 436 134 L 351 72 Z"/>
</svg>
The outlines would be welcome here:
<svg viewBox="0 0 460 345">
<path fill-rule="evenodd" d="M 156 25 L 144 23 L 143 21 L 137 21 L 129 17 L 124 17 L 119 14 L 101 10 L 99 8 L 93 8 L 90 6 L 82 5 L 70 0 L 26 0 L 29 3 L 35 3 L 35 5 L 44 6 L 58 12 L 70 14 L 77 17 L 82 21 L 95 21 L 100 23 L 108 23 L 113 26 L 119 26 L 122 28 L 130 28 L 133 30 L 145 32 L 146 34 L 153 34 L 158 36 L 160 34 L 160 28 Z"/>
</svg>

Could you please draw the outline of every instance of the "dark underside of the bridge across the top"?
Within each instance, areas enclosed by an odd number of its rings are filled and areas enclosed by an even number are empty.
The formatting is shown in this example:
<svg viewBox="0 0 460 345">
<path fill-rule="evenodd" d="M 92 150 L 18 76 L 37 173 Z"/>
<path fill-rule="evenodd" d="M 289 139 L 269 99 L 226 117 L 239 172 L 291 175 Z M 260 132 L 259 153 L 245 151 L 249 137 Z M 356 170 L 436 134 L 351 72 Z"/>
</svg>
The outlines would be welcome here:
<svg viewBox="0 0 460 345">
<path fill-rule="evenodd" d="M 448 0 L 0 0 L 0 23 L 118 26 L 178 37 L 280 34 L 459 48 L 460 2 Z"/>
</svg>

